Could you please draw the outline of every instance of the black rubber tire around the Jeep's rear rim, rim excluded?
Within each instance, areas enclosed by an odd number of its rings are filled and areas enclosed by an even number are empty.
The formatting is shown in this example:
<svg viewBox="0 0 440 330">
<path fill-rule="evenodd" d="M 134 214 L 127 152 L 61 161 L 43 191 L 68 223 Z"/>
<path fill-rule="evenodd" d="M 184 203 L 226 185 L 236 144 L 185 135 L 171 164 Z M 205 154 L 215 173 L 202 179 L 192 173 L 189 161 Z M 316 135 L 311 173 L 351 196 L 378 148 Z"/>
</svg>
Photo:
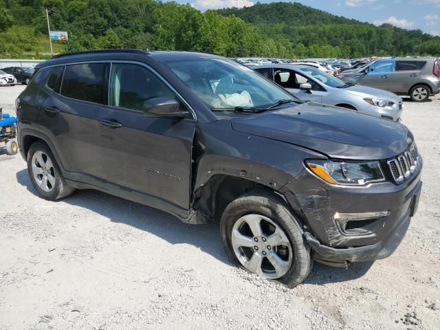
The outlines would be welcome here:
<svg viewBox="0 0 440 330">
<path fill-rule="evenodd" d="M 32 157 L 34 156 L 34 153 L 36 153 L 36 151 L 43 151 L 43 153 L 45 153 L 47 157 L 50 158 L 50 160 L 52 161 L 52 165 L 54 166 L 55 184 L 54 184 L 54 188 L 50 192 L 46 192 L 42 190 L 38 186 L 38 184 L 36 184 L 36 181 L 34 179 L 34 174 L 32 173 Z M 29 173 L 30 181 L 32 182 L 32 186 L 34 186 L 34 189 L 36 190 L 38 195 L 43 197 L 44 199 L 48 199 L 51 201 L 57 199 L 61 189 L 60 168 L 58 168 L 58 164 L 56 163 L 56 160 L 54 158 L 54 155 L 52 154 L 52 151 L 50 151 L 50 148 L 43 142 L 36 142 L 32 144 L 32 146 L 28 151 L 28 158 L 26 162 L 28 163 L 28 173 Z"/>
</svg>

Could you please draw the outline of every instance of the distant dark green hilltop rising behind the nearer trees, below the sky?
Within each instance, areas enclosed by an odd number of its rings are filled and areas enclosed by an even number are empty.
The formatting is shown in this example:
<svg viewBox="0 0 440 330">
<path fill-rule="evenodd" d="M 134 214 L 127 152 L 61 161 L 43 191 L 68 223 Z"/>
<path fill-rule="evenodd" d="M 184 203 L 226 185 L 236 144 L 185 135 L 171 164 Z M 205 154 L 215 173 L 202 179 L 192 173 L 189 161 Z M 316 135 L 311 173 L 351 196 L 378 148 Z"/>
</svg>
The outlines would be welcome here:
<svg viewBox="0 0 440 330">
<path fill-rule="evenodd" d="M 223 16 L 235 15 L 243 21 L 257 24 L 286 23 L 294 25 L 309 24 L 359 24 L 355 19 L 346 19 L 329 14 L 323 10 L 308 7 L 301 3 L 272 2 L 256 3 L 251 7 L 226 8 L 217 10 Z"/>
</svg>

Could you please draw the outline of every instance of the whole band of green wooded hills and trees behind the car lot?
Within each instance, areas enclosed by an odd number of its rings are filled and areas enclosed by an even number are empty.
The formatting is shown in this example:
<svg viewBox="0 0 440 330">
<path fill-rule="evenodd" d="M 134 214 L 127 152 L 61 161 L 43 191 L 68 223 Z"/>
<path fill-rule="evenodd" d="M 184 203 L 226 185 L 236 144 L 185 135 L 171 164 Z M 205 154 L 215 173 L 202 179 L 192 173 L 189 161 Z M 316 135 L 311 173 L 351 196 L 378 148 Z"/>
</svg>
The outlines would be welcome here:
<svg viewBox="0 0 440 330">
<path fill-rule="evenodd" d="M 52 31 L 69 32 L 54 52 L 140 48 L 230 57 L 353 58 L 439 55 L 440 37 L 377 27 L 299 3 L 200 12 L 158 0 L 0 0 L 0 57 L 47 58 Z"/>
</svg>

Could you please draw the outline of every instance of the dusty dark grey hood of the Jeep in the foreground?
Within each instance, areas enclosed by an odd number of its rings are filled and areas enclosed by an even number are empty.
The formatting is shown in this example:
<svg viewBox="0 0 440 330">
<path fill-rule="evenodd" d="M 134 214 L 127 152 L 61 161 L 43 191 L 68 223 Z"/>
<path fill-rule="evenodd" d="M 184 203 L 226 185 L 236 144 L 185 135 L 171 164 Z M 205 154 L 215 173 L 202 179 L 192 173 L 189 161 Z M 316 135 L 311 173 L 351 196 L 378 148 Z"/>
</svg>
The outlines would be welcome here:
<svg viewBox="0 0 440 330">
<path fill-rule="evenodd" d="M 340 159 L 388 159 L 412 143 L 406 126 L 357 111 L 308 102 L 234 118 L 232 129 Z"/>
</svg>

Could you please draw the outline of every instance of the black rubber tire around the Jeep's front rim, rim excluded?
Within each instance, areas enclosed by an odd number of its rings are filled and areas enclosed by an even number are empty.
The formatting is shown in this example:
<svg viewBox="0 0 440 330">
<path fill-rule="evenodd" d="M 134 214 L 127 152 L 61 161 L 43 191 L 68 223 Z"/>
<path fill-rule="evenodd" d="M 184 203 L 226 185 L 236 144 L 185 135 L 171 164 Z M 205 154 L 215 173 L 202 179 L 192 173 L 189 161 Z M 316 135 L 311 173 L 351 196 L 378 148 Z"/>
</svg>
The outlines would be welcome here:
<svg viewBox="0 0 440 330">
<path fill-rule="evenodd" d="M 277 278 L 274 281 L 283 283 L 289 287 L 295 287 L 302 283 L 311 269 L 310 248 L 303 238 L 303 230 L 300 228 L 298 221 L 285 206 L 285 202 L 281 197 L 267 197 L 262 195 L 248 195 L 240 197 L 232 201 L 223 212 L 221 217 L 221 239 L 226 254 L 234 265 L 245 270 L 237 259 L 234 248 L 232 247 L 232 228 L 234 223 L 245 214 L 261 214 L 270 218 L 287 235 L 292 245 L 292 265 L 287 274 Z"/>
</svg>

